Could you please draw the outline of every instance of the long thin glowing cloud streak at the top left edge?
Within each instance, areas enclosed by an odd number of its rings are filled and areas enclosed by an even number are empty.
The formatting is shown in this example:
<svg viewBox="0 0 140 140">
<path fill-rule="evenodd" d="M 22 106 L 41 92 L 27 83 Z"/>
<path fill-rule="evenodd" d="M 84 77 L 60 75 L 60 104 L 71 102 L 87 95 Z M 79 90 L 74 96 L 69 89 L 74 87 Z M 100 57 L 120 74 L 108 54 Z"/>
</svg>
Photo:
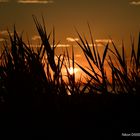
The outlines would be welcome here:
<svg viewBox="0 0 140 140">
<path fill-rule="evenodd" d="M 18 0 L 18 3 L 21 4 L 48 4 L 53 3 L 53 0 Z"/>
</svg>

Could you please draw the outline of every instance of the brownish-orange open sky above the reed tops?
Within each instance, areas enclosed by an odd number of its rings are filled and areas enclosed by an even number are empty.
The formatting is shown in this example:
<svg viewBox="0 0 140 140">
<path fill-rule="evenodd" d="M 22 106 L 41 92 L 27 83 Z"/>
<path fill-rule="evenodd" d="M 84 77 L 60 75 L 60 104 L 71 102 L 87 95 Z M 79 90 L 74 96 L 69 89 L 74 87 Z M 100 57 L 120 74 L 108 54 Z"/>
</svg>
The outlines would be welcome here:
<svg viewBox="0 0 140 140">
<path fill-rule="evenodd" d="M 106 42 L 111 36 L 120 41 L 140 31 L 140 1 L 136 0 L 0 0 L 0 41 L 15 24 L 19 32 L 38 39 L 32 15 L 46 27 L 56 29 L 56 39 L 63 44 L 77 39 L 74 27 L 88 35 L 90 23 L 95 39 Z"/>
</svg>

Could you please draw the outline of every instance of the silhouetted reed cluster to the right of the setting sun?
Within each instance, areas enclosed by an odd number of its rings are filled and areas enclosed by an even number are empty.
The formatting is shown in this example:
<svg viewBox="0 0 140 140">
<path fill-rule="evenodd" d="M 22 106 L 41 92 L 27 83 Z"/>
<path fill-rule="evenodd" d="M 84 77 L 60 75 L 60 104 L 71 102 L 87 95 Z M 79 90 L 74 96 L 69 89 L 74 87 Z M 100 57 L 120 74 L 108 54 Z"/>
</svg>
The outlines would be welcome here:
<svg viewBox="0 0 140 140">
<path fill-rule="evenodd" d="M 137 48 L 134 45 L 134 39 L 132 39 L 131 56 L 128 58 L 126 58 L 124 44 L 122 43 L 120 52 L 113 41 L 108 41 L 104 46 L 103 55 L 100 56 L 98 45 L 93 40 L 89 25 L 88 27 L 92 47 L 87 39 L 82 38 L 78 32 L 81 43 L 78 41 L 77 43 L 83 50 L 89 67 L 84 68 L 77 65 L 88 76 L 86 88 L 88 88 L 89 93 L 138 93 L 140 89 L 140 34 Z M 113 49 L 110 46 L 113 46 Z M 107 76 L 107 71 L 111 73 L 110 76 Z"/>
</svg>

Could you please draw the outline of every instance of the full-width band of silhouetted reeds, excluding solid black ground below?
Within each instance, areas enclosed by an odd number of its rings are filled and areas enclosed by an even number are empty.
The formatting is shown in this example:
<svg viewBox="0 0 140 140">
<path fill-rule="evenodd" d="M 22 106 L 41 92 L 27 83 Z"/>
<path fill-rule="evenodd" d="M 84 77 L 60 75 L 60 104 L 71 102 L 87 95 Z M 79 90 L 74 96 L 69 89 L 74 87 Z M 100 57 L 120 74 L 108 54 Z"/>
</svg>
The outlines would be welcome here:
<svg viewBox="0 0 140 140">
<path fill-rule="evenodd" d="M 68 51 L 57 56 L 54 29 L 52 43 L 50 43 L 51 33 L 47 34 L 44 19 L 43 25 L 35 16 L 33 19 L 41 38 L 41 44 L 37 50 L 32 48 L 30 43 L 25 43 L 22 35 L 18 35 L 15 28 L 13 34 L 9 32 L 10 45 L 7 41 L 3 43 L 4 50 L 0 52 L 1 101 L 15 97 L 24 99 L 27 96 L 67 95 L 68 93 L 71 95 L 138 93 L 140 87 L 140 36 L 136 51 L 132 40 L 131 56 L 129 60 L 126 60 L 123 44 L 120 53 L 113 41 L 111 43 L 114 47 L 113 50 L 109 48 L 110 42 L 108 42 L 101 56 L 94 43 L 90 26 L 92 46 L 77 31 L 81 41 L 81 43 L 77 41 L 77 44 L 83 50 L 89 64 L 89 67 L 85 68 L 75 62 L 73 48 L 72 57 L 69 56 Z M 111 80 L 106 74 L 105 63 L 109 66 Z M 78 65 L 85 73 L 86 82 L 77 82 L 75 73 L 70 74 L 69 68 L 74 69 L 75 65 Z M 62 67 L 66 69 L 67 82 L 63 79 Z"/>
</svg>

